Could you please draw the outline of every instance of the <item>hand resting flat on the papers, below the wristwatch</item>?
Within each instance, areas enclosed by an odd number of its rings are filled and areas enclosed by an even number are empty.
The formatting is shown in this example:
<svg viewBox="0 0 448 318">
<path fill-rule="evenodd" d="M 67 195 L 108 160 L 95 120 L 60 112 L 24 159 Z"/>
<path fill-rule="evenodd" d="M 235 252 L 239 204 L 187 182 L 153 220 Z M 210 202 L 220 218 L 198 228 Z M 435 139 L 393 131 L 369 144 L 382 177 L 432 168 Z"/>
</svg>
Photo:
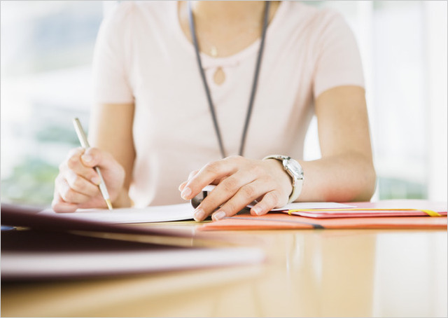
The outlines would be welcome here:
<svg viewBox="0 0 448 318">
<path fill-rule="evenodd" d="M 291 178 L 279 160 L 253 160 L 236 155 L 192 172 L 188 181 L 179 186 L 181 197 L 191 200 L 209 184 L 215 184 L 216 188 L 196 208 L 196 221 L 212 213 L 214 221 L 235 215 L 253 200 L 258 203 L 251 208 L 251 214 L 266 214 L 274 207 L 286 205 L 293 189 Z"/>
</svg>

